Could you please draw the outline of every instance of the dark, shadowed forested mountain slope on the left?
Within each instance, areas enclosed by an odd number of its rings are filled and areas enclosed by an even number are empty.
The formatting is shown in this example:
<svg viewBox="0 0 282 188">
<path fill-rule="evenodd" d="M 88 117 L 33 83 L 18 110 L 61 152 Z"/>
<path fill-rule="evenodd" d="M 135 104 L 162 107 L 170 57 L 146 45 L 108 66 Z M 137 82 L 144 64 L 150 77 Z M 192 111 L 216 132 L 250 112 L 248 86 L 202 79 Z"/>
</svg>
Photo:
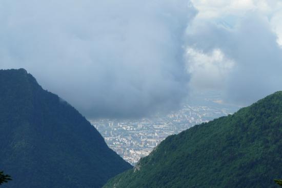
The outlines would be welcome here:
<svg viewBox="0 0 282 188">
<path fill-rule="evenodd" d="M 13 179 L 3 187 L 102 187 L 130 168 L 75 108 L 26 70 L 0 70 L 0 170 Z"/>
</svg>

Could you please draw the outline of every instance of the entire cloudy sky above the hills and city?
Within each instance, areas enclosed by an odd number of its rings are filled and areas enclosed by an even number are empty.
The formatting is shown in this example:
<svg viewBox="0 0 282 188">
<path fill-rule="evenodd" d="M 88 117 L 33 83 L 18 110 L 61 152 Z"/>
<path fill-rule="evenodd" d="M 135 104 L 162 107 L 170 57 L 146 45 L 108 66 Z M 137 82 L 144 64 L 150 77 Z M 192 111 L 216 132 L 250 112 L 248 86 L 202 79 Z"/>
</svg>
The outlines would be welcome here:
<svg viewBox="0 0 282 188">
<path fill-rule="evenodd" d="M 0 1 L 0 68 L 25 68 L 89 118 L 177 109 L 215 90 L 282 89 L 278 0 Z"/>
</svg>

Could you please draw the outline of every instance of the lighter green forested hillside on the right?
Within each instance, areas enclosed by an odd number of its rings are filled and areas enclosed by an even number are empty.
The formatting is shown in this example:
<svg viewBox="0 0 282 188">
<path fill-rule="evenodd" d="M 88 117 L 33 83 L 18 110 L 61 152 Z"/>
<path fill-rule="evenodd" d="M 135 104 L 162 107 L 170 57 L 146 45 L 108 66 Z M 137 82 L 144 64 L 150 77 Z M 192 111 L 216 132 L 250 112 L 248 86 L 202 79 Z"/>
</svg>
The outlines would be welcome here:
<svg viewBox="0 0 282 188">
<path fill-rule="evenodd" d="M 282 177 L 282 92 L 234 115 L 169 136 L 104 187 L 277 187 Z"/>
</svg>

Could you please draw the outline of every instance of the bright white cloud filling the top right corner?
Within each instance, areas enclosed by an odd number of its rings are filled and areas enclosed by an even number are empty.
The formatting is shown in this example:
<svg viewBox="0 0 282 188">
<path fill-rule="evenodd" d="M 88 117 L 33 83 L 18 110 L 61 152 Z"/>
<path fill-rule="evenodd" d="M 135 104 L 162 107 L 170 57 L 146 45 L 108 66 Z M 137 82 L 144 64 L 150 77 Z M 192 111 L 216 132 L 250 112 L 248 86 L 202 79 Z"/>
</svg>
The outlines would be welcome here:
<svg viewBox="0 0 282 188">
<path fill-rule="evenodd" d="M 192 0 L 199 10 L 197 22 L 203 20 L 234 27 L 246 14 L 255 12 L 266 16 L 272 30 L 277 34 L 277 43 L 282 45 L 282 1 L 280 0 Z"/>
</svg>

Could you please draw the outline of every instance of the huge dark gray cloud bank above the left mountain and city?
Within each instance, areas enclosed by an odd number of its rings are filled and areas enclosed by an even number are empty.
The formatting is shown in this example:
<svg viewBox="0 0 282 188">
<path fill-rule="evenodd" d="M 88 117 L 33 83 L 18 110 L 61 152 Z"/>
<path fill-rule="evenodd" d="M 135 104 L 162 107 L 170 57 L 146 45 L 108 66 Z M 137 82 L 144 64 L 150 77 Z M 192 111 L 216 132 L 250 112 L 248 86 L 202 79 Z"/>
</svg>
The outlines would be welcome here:
<svg viewBox="0 0 282 188">
<path fill-rule="evenodd" d="M 26 68 L 88 117 L 142 117 L 187 94 L 187 0 L 0 2 L 1 68 Z"/>
</svg>

